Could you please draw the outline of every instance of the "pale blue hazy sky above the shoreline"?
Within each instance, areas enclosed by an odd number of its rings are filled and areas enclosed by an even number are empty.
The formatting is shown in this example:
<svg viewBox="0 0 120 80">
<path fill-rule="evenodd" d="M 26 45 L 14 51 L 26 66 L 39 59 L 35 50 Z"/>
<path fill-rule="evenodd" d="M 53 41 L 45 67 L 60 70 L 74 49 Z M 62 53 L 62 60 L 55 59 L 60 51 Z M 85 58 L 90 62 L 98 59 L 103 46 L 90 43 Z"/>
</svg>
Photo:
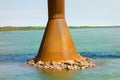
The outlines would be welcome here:
<svg viewBox="0 0 120 80">
<path fill-rule="evenodd" d="M 120 25 L 120 0 L 65 0 L 69 26 Z M 47 0 L 0 0 L 0 26 L 46 26 Z"/>
</svg>

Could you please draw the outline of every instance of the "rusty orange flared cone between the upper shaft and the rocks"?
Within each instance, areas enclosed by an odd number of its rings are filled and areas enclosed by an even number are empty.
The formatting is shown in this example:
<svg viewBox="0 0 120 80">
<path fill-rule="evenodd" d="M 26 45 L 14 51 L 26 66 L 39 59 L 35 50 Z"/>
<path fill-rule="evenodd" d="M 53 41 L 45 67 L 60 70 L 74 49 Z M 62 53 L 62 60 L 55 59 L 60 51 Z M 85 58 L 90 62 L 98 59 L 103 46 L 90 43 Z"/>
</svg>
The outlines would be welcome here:
<svg viewBox="0 0 120 80">
<path fill-rule="evenodd" d="M 65 19 L 48 21 L 35 62 L 81 60 L 69 32 Z"/>
</svg>

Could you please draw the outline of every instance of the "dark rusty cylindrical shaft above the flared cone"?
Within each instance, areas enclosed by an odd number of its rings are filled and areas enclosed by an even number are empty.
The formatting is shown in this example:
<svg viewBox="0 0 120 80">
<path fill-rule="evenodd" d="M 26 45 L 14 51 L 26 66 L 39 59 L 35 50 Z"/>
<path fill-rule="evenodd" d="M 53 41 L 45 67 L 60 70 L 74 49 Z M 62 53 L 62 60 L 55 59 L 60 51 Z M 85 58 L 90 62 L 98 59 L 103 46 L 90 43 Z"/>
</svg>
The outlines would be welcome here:
<svg viewBox="0 0 120 80">
<path fill-rule="evenodd" d="M 48 0 L 49 19 L 65 18 L 64 0 Z"/>
</svg>

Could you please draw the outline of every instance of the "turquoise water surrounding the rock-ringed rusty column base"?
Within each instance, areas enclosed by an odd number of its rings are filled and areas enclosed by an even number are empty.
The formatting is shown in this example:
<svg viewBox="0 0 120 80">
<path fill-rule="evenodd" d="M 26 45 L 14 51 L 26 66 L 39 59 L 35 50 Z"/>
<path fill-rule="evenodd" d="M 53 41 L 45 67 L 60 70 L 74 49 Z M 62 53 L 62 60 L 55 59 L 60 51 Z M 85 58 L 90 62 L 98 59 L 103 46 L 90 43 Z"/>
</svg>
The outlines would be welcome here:
<svg viewBox="0 0 120 80">
<path fill-rule="evenodd" d="M 27 66 L 44 31 L 0 32 L 0 80 L 120 80 L 120 28 L 71 30 L 78 52 L 96 63 L 84 71 L 49 71 Z"/>
</svg>

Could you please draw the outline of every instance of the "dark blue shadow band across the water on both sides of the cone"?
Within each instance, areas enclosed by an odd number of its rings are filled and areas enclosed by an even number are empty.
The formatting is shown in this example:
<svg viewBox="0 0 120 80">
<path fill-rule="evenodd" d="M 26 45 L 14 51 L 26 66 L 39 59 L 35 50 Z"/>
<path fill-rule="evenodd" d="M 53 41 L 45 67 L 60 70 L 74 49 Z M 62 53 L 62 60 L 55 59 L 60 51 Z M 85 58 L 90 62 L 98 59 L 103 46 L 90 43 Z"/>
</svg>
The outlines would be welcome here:
<svg viewBox="0 0 120 80">
<path fill-rule="evenodd" d="M 92 59 L 120 58 L 120 51 L 80 52 L 82 56 Z M 36 54 L 0 54 L 0 62 L 26 62 Z"/>
</svg>

